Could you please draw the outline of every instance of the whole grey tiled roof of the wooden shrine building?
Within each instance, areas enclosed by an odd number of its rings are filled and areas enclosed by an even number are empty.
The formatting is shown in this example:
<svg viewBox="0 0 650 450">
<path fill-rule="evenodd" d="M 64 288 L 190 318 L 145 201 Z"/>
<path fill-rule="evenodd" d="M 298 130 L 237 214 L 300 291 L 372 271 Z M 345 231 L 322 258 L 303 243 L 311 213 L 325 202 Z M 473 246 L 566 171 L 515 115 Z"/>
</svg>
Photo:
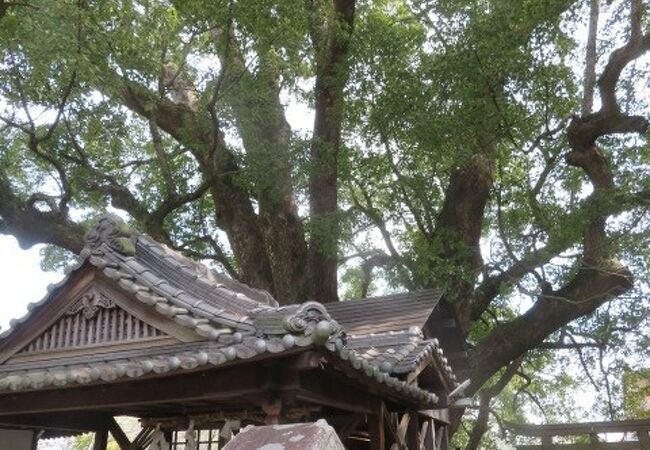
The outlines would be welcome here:
<svg viewBox="0 0 650 450">
<path fill-rule="evenodd" d="M 439 358 L 439 366 L 454 379 L 446 361 L 441 363 L 444 358 L 437 342 L 424 339 L 418 328 L 440 298 L 433 290 L 328 304 L 327 308 L 316 302 L 279 307 L 267 292 L 231 280 L 128 229 L 114 215 L 103 217 L 89 233 L 72 272 L 87 264 L 205 340 L 144 353 L 53 359 L 47 366 L 0 365 L 0 391 L 108 382 L 309 346 L 327 349 L 361 376 L 426 405 L 437 401 L 435 394 L 398 376 L 413 370 L 424 358 Z M 68 279 L 53 286 L 30 311 L 41 308 Z M 1 338 L 29 316 L 12 321 L 12 328 L 0 335 L 0 346 Z"/>
</svg>

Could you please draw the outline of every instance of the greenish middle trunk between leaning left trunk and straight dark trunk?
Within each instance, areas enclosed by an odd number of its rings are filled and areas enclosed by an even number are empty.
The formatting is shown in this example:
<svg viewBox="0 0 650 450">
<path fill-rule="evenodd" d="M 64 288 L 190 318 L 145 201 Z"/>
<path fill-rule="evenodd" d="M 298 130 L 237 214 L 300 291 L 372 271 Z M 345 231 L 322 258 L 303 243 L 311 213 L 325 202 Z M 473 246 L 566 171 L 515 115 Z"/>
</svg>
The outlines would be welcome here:
<svg viewBox="0 0 650 450">
<path fill-rule="evenodd" d="M 228 87 L 223 95 L 235 114 L 255 180 L 272 292 L 281 304 L 300 303 L 309 298 L 307 242 L 294 199 L 291 127 L 280 101 L 279 75 L 266 58 L 261 58 L 257 72 L 251 73 L 234 44 L 231 41 L 228 55 L 221 56 L 227 61 Z"/>
</svg>

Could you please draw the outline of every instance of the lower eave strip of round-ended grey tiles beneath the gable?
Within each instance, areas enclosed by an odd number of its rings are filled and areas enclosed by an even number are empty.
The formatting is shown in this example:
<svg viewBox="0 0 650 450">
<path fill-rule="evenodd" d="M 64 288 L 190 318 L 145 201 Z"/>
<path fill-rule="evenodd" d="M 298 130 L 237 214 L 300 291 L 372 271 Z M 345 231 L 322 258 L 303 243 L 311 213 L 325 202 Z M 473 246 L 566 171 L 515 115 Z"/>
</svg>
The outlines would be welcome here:
<svg viewBox="0 0 650 450">
<path fill-rule="evenodd" d="M 227 343 L 226 343 L 227 342 Z M 419 402 L 423 406 L 433 406 L 438 397 L 413 384 L 407 384 L 344 343 L 341 334 L 330 336 L 326 342 L 315 336 L 294 336 L 222 340 L 222 342 L 201 342 L 181 344 L 146 352 L 117 352 L 65 360 L 49 365 L 34 363 L 0 366 L 0 391 L 25 391 L 53 387 L 70 387 L 92 383 L 111 382 L 118 379 L 140 378 L 156 374 L 174 373 L 201 367 L 219 366 L 234 360 L 252 359 L 265 353 L 280 354 L 294 347 L 321 347 L 339 360 L 346 361 L 358 376 L 378 383 L 385 389 L 395 391 Z"/>
</svg>

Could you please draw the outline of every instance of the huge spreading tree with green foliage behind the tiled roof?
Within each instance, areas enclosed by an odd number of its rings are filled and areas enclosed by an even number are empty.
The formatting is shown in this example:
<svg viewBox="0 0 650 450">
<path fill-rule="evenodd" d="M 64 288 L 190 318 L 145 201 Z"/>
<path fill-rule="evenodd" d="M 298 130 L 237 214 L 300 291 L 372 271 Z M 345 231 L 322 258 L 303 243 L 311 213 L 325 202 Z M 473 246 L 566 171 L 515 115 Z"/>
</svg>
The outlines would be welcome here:
<svg viewBox="0 0 650 450">
<path fill-rule="evenodd" d="M 0 1 L 0 233 L 52 265 L 111 206 L 280 303 L 441 287 L 488 408 L 648 273 L 649 14 L 598 6 Z"/>
</svg>

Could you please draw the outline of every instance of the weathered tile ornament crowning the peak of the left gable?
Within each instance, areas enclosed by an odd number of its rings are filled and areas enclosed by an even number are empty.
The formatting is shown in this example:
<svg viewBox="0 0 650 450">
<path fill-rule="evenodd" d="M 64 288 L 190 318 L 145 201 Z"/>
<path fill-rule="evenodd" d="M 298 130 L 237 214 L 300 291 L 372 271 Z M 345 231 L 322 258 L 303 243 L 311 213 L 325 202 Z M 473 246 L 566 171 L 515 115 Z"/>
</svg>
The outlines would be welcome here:
<svg viewBox="0 0 650 450">
<path fill-rule="evenodd" d="M 100 249 L 102 244 L 125 255 L 135 255 L 136 232 L 116 214 L 105 214 L 86 235 L 82 256 Z"/>
</svg>

